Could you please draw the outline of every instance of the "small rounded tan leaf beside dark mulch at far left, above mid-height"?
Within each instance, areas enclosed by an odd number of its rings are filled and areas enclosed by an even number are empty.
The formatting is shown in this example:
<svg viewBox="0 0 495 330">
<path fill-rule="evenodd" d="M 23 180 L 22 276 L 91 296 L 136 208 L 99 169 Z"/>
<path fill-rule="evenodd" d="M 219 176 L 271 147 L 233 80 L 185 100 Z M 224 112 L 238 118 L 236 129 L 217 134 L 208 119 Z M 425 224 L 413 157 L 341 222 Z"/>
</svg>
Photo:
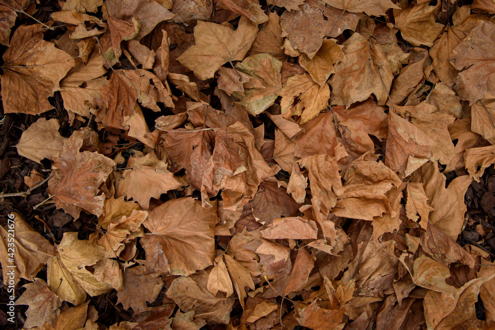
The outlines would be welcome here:
<svg viewBox="0 0 495 330">
<path fill-rule="evenodd" d="M 64 138 L 58 133 L 58 119 L 38 119 L 27 130 L 22 132 L 21 139 L 16 144 L 17 153 L 41 164 L 44 158 L 53 160 L 64 143 Z"/>
</svg>

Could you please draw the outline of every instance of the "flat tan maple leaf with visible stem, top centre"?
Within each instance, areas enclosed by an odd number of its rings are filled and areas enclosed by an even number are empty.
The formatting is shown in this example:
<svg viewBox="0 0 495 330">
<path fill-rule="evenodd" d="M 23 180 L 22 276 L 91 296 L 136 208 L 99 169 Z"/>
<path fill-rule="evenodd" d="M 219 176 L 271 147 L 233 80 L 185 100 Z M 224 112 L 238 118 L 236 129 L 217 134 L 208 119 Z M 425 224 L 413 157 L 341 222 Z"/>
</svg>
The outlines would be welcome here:
<svg viewBox="0 0 495 330">
<path fill-rule="evenodd" d="M 194 28 L 195 46 L 190 47 L 177 60 L 201 80 L 213 78 L 226 62 L 244 58 L 258 29 L 244 16 L 236 31 L 229 27 L 199 21 Z M 201 59 L 198 61 L 198 57 Z"/>
</svg>

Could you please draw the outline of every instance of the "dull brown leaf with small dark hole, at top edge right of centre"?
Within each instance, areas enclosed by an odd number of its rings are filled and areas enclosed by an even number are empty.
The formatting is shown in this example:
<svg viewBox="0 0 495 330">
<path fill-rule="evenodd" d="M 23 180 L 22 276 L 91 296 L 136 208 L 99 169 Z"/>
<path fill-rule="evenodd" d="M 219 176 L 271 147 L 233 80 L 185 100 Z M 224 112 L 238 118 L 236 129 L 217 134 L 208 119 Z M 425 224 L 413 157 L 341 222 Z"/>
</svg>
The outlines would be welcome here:
<svg viewBox="0 0 495 330">
<path fill-rule="evenodd" d="M 306 0 L 299 10 L 286 11 L 280 24 L 283 35 L 309 59 L 320 49 L 325 36 L 337 37 L 346 29 L 354 31 L 359 15 L 325 7 L 321 0 Z"/>
</svg>

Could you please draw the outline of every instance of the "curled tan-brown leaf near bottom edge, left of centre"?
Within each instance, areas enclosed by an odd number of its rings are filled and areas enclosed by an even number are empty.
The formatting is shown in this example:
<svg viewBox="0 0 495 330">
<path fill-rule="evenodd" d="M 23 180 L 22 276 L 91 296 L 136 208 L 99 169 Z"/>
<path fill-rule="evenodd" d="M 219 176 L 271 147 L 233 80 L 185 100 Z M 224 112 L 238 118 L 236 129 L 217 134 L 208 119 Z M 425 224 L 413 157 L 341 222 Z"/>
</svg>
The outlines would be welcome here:
<svg viewBox="0 0 495 330">
<path fill-rule="evenodd" d="M 170 284 L 167 297 L 183 311 L 194 310 L 197 318 L 216 324 L 228 324 L 234 298 L 227 298 L 221 293 L 211 294 L 205 287 L 206 278 L 206 274 L 201 272 L 197 281 L 193 277 L 179 277 Z"/>
</svg>

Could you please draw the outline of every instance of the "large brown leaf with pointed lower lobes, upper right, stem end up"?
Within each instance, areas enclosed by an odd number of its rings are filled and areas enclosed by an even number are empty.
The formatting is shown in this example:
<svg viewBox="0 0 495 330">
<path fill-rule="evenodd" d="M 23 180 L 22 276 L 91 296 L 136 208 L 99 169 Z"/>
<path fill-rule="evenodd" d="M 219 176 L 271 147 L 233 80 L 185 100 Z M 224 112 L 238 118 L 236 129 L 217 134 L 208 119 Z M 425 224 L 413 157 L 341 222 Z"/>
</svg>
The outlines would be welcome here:
<svg viewBox="0 0 495 330">
<path fill-rule="evenodd" d="M 384 105 L 393 75 L 378 45 L 359 33 L 354 33 L 343 45 L 346 56 L 335 65 L 335 75 L 330 79 L 331 104 L 348 108 L 350 104 L 364 101 L 374 94 L 378 105 Z"/>
</svg>

